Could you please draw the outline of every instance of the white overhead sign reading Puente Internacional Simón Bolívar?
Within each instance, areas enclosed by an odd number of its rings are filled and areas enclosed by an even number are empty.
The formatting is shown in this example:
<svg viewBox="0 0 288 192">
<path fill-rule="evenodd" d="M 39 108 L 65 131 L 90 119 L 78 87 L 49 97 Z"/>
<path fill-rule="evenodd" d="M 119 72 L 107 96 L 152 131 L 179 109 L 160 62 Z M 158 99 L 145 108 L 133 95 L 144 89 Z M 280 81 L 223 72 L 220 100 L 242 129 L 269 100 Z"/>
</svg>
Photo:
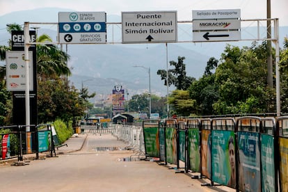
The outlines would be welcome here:
<svg viewBox="0 0 288 192">
<path fill-rule="evenodd" d="M 122 12 L 122 43 L 177 42 L 177 11 Z"/>
</svg>

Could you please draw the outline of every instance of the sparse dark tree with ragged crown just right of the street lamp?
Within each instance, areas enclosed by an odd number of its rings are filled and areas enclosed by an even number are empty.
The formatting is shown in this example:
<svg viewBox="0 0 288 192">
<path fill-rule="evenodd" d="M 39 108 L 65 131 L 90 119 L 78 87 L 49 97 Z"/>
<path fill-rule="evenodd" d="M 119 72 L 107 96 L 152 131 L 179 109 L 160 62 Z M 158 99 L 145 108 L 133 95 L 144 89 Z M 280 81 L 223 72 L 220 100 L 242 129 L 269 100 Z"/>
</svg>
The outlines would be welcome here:
<svg viewBox="0 0 288 192">
<path fill-rule="evenodd" d="M 194 77 L 186 76 L 186 65 L 184 64 L 185 57 L 178 56 L 178 62 L 170 61 L 170 66 L 174 66 L 174 69 L 168 70 L 168 86 L 174 85 L 178 90 L 187 90 L 191 83 L 195 81 Z M 161 76 L 161 80 L 164 81 L 164 85 L 167 85 L 166 70 L 158 70 L 157 74 Z"/>
</svg>

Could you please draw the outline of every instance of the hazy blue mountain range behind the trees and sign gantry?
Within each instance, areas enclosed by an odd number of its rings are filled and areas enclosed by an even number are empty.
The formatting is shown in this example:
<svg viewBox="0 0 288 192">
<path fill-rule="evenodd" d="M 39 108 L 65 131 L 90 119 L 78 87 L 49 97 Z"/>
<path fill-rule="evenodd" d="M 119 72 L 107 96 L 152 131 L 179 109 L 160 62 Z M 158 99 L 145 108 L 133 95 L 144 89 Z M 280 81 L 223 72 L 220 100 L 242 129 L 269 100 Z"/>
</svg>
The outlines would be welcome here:
<svg viewBox="0 0 288 192">
<path fill-rule="evenodd" d="M 10 35 L 6 24 L 24 22 L 56 23 L 58 12 L 72 12 L 63 8 L 40 8 L 35 10 L 17 11 L 0 16 L 0 44 L 6 45 Z M 120 15 L 108 15 L 107 23 L 121 22 Z M 31 26 L 35 26 L 31 24 Z M 56 40 L 57 25 L 39 25 L 38 35 L 47 33 Z M 112 93 L 115 85 L 120 84 L 129 95 L 147 92 L 149 89 L 149 73 L 152 94 L 166 95 L 167 88 L 163 86 L 157 70 L 166 70 L 169 61 L 176 61 L 178 56 L 186 59 L 186 72 L 196 79 L 202 77 L 207 61 L 211 57 L 221 58 L 227 44 L 239 47 L 250 46 L 251 41 L 239 42 L 203 42 L 193 43 L 191 24 L 178 24 L 178 40 L 181 43 L 159 44 L 121 44 L 120 24 L 107 24 L 107 44 L 105 45 L 63 45 L 63 50 L 70 55 L 68 66 L 72 70 L 69 80 L 77 88 L 87 87 L 89 92 L 104 97 Z M 256 27 L 245 29 L 255 33 Z M 111 32 L 112 31 L 112 32 Z M 112 34 L 113 33 L 113 34 Z M 111 35 L 112 34 L 112 35 Z M 280 27 L 280 45 L 288 34 L 288 26 Z M 261 43 L 261 42 L 259 42 Z M 0 63 L 4 65 L 4 63 Z M 141 66 L 141 67 L 134 67 Z M 173 89 L 173 88 L 170 88 Z"/>
</svg>

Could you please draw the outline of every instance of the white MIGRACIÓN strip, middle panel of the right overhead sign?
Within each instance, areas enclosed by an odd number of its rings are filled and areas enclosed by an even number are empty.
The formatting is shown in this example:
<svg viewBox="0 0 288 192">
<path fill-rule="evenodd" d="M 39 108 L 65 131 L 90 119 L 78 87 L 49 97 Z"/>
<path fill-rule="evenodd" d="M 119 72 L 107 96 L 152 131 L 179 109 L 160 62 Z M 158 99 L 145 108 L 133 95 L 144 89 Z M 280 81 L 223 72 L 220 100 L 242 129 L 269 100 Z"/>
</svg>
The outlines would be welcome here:
<svg viewBox="0 0 288 192">
<path fill-rule="evenodd" d="M 240 28 L 241 21 L 239 19 L 210 19 L 193 21 L 193 31 L 232 30 Z"/>
</svg>

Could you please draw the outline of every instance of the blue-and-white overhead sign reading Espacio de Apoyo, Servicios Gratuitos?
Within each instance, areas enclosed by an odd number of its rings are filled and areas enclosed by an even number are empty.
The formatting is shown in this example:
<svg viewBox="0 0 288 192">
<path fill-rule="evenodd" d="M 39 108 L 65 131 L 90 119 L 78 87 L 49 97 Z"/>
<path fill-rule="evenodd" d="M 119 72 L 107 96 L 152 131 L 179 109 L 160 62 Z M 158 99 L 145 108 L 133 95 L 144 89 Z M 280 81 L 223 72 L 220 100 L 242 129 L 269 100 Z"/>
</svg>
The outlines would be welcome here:
<svg viewBox="0 0 288 192">
<path fill-rule="evenodd" d="M 59 12 L 58 17 L 60 43 L 106 43 L 106 13 Z"/>
</svg>

